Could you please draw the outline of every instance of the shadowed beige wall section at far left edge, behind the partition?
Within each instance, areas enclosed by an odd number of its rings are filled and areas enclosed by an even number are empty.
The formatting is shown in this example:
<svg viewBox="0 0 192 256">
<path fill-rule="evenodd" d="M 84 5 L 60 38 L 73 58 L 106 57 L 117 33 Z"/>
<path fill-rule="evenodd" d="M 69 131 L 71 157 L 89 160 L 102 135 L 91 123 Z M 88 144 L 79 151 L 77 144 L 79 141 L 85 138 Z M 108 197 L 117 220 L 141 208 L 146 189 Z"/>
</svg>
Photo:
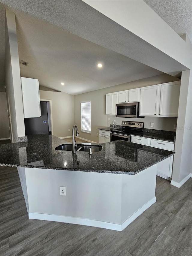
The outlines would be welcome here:
<svg viewBox="0 0 192 256">
<path fill-rule="evenodd" d="M 5 92 L 0 92 L 0 139 L 9 138 L 9 120 L 7 98 Z"/>
</svg>

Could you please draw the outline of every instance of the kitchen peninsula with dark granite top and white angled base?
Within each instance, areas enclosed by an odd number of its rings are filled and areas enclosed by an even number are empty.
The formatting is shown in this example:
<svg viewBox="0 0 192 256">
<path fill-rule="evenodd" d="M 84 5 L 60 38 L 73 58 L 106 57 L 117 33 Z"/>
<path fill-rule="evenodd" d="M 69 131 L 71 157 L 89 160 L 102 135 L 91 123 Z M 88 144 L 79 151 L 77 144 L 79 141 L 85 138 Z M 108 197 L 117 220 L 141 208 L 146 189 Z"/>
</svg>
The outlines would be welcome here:
<svg viewBox="0 0 192 256">
<path fill-rule="evenodd" d="M 0 165 L 17 167 L 29 218 L 121 231 L 155 203 L 157 163 L 175 154 L 118 140 L 73 156 L 55 150 L 63 143 L 42 134 L 1 145 Z"/>
</svg>

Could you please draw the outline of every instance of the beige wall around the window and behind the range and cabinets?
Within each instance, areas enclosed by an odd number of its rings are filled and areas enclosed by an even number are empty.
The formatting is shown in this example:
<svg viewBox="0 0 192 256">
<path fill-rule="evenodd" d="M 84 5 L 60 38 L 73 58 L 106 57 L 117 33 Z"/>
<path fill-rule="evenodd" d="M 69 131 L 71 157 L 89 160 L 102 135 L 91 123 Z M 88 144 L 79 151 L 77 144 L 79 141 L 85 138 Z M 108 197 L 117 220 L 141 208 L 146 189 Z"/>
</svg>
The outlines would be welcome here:
<svg viewBox="0 0 192 256">
<path fill-rule="evenodd" d="M 122 120 L 125 118 L 120 118 L 116 116 L 106 116 L 105 115 L 105 95 L 110 92 L 118 92 L 126 89 L 134 89 L 139 87 L 151 86 L 160 83 L 167 83 L 179 80 L 167 74 L 149 77 L 145 79 L 140 79 L 137 81 L 124 83 L 117 86 L 111 86 L 108 88 L 100 89 L 93 92 L 87 92 L 74 96 L 74 110 L 75 110 L 75 124 L 78 126 L 79 131 L 81 130 L 81 101 L 91 101 L 91 134 L 84 132 L 79 132 L 79 136 L 87 140 L 99 142 L 99 137 L 97 137 L 98 128 L 102 126 L 107 127 L 112 124 L 113 120 L 116 120 L 118 125 L 122 125 Z M 110 117 L 110 121 L 108 121 Z M 133 120 L 126 118 L 126 120 Z M 144 122 L 144 128 L 150 128 L 150 122 L 154 123 L 153 129 L 176 131 L 173 129 L 173 125 L 177 124 L 177 118 L 175 117 L 145 117 L 139 118 L 138 121 Z"/>
</svg>

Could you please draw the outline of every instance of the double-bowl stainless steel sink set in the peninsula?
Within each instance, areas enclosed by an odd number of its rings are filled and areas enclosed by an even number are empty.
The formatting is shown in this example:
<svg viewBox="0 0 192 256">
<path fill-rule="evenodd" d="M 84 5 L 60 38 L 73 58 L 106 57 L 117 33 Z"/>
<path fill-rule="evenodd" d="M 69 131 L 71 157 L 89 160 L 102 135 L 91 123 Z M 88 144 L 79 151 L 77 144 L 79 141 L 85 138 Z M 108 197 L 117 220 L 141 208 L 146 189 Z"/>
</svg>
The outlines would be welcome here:
<svg viewBox="0 0 192 256">
<path fill-rule="evenodd" d="M 99 152 L 101 151 L 101 149 L 103 148 L 101 145 L 88 145 L 88 146 L 84 146 L 84 145 L 77 145 L 76 146 L 76 152 L 89 152 L 89 148 L 92 148 L 92 152 Z M 72 144 L 62 144 L 59 145 L 55 148 L 56 150 L 67 150 L 67 151 L 72 151 Z"/>
</svg>

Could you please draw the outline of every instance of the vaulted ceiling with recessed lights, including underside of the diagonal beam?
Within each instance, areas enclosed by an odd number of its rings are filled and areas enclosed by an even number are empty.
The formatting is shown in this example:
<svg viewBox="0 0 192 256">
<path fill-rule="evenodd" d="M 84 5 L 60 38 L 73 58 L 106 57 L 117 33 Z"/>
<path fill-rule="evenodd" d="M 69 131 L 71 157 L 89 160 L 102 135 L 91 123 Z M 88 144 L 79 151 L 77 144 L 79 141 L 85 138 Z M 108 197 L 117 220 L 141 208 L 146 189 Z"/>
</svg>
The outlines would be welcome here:
<svg viewBox="0 0 192 256">
<path fill-rule="evenodd" d="M 27 67 L 21 67 L 21 75 L 37 77 L 41 85 L 78 94 L 160 74 L 133 60 L 139 60 L 143 53 L 143 63 L 151 67 L 158 64 L 159 70 L 169 74 L 174 68 L 185 70 L 82 1 L 0 2 L 16 13 L 19 57 L 29 62 Z M 152 57 L 154 65 L 150 62 Z M 95 68 L 98 61 L 104 63 L 102 70 Z M 61 87 L 61 81 L 66 85 Z"/>
</svg>

